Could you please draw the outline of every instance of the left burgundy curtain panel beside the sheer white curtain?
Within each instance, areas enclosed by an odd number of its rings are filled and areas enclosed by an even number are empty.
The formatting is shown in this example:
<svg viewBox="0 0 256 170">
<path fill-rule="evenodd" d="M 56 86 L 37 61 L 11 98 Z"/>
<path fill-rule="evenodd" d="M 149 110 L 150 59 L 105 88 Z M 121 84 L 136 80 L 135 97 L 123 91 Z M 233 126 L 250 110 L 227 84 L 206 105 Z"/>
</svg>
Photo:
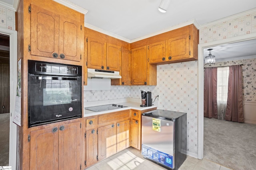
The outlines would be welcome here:
<svg viewBox="0 0 256 170">
<path fill-rule="evenodd" d="M 208 67 L 204 70 L 204 117 L 218 119 L 217 67 Z"/>
</svg>

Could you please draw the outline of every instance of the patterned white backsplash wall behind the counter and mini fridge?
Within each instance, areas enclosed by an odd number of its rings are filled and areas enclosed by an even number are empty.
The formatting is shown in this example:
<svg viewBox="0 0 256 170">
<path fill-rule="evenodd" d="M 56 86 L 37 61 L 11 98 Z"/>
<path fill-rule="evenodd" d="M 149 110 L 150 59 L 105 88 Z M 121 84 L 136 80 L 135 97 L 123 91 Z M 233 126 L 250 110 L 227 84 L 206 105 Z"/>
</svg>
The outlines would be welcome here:
<svg viewBox="0 0 256 170">
<path fill-rule="evenodd" d="M 152 92 L 158 109 L 187 113 L 187 150 L 197 156 L 198 148 L 198 62 L 157 66 L 157 86 L 111 86 L 111 90 L 84 91 L 84 102 L 141 98 L 140 90 Z M 153 103 L 154 104 L 154 103 Z"/>
</svg>

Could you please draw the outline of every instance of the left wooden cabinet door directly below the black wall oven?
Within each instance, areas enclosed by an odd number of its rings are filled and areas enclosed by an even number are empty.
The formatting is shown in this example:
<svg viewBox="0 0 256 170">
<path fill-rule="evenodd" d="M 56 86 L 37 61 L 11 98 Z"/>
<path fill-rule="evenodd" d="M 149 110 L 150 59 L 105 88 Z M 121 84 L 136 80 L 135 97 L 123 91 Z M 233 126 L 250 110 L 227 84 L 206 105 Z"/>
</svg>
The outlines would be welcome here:
<svg viewBox="0 0 256 170">
<path fill-rule="evenodd" d="M 58 170 L 58 127 L 30 132 L 30 170 Z"/>
</svg>

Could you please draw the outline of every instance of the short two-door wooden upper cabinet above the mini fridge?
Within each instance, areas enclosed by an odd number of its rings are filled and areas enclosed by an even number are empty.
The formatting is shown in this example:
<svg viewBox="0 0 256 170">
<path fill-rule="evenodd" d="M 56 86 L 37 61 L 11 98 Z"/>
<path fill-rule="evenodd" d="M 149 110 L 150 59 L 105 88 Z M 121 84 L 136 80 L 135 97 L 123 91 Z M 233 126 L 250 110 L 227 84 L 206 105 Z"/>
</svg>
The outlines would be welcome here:
<svg viewBox="0 0 256 170">
<path fill-rule="evenodd" d="M 131 44 L 148 45 L 150 64 L 170 64 L 198 59 L 198 30 L 194 25 L 162 33 Z"/>
</svg>

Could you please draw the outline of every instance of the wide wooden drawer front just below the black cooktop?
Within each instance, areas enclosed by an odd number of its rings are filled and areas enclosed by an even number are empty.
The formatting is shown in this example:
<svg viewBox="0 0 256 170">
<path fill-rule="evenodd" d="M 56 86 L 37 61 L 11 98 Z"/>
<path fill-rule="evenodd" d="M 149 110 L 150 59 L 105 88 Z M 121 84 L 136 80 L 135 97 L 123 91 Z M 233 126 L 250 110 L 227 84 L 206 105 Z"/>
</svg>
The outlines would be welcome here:
<svg viewBox="0 0 256 170">
<path fill-rule="evenodd" d="M 118 119 L 125 119 L 130 117 L 130 111 L 129 110 L 124 110 L 124 111 L 118 111 L 115 113 L 110 113 L 106 115 L 102 115 L 98 117 L 98 124 L 103 124 L 103 123 L 109 123 L 112 121 L 116 121 Z"/>
</svg>

